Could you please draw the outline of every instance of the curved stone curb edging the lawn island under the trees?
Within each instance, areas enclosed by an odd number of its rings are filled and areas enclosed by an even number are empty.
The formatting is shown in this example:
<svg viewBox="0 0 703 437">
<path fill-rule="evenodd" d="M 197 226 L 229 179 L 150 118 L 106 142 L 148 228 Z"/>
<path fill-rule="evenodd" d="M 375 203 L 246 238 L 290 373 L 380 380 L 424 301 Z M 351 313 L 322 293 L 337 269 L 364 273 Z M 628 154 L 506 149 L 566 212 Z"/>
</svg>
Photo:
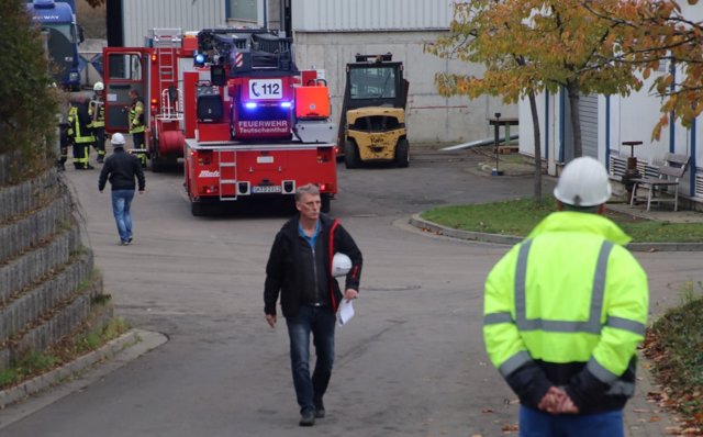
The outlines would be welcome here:
<svg viewBox="0 0 703 437">
<path fill-rule="evenodd" d="M 437 235 L 471 242 L 512 246 L 525 239 L 524 237 L 517 237 L 514 235 L 486 234 L 482 232 L 455 229 L 453 227 L 446 227 L 440 224 L 426 221 L 422 218 L 420 214 L 413 214 L 408 223 L 425 232 L 432 232 Z M 631 251 L 703 251 L 703 243 L 631 243 L 625 247 Z"/>
</svg>

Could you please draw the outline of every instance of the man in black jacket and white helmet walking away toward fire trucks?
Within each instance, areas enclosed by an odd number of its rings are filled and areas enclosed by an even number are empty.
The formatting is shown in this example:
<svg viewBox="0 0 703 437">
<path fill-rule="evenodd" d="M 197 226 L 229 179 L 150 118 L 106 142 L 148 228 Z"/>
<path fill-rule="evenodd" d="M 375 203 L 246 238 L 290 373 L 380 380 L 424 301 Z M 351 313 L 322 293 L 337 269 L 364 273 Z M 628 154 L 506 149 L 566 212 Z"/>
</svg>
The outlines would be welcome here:
<svg viewBox="0 0 703 437">
<path fill-rule="evenodd" d="M 132 243 L 132 214 L 130 205 L 134 199 L 134 178 L 140 184 L 140 194 L 144 193 L 145 181 L 142 165 L 136 156 L 124 152 L 124 135 L 116 133 L 111 139 L 114 152 L 105 159 L 98 189 L 104 190 L 105 182 L 110 179 L 112 186 L 112 213 L 120 234 L 120 244 L 126 246 Z"/>
</svg>

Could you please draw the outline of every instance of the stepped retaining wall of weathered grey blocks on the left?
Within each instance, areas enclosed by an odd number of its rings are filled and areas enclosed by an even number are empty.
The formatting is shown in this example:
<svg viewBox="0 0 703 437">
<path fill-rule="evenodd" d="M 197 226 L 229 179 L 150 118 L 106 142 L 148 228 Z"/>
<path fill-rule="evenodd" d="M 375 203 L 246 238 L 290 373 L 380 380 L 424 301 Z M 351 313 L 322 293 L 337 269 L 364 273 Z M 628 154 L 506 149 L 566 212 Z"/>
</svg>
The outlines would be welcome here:
<svg viewBox="0 0 703 437">
<path fill-rule="evenodd" d="M 81 245 L 75 204 L 55 170 L 9 186 L 16 160 L 0 155 L 0 369 L 93 320 L 102 281 Z"/>
</svg>

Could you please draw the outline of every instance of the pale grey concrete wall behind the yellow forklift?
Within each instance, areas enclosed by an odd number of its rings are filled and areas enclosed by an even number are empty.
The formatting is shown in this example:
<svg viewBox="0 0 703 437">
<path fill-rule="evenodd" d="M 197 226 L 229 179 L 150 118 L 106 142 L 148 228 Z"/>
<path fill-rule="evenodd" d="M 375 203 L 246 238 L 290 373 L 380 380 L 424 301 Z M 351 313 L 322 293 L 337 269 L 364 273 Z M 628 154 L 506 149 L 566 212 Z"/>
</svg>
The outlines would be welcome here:
<svg viewBox="0 0 703 437">
<path fill-rule="evenodd" d="M 465 143 L 492 138 L 488 119 L 494 112 L 516 116 L 517 105 L 505 105 L 500 99 L 482 97 L 440 97 L 434 85 L 439 71 L 480 76 L 482 67 L 440 59 L 423 53 L 423 45 L 436 41 L 437 32 L 295 32 L 295 58 L 300 69 L 325 70 L 332 94 L 333 117 L 338 120 L 345 86 L 345 66 L 354 55 L 391 52 L 393 60 L 402 60 L 410 81 L 408 101 L 408 136 L 412 143 Z"/>
</svg>

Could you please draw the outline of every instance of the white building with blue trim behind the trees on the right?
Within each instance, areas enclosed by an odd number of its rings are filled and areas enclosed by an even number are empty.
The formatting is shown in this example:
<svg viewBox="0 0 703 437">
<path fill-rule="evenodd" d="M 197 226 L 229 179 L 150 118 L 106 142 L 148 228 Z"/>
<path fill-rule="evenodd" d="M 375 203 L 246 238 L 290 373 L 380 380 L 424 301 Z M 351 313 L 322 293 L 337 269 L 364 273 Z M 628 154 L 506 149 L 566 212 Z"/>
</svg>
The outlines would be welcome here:
<svg viewBox="0 0 703 437">
<path fill-rule="evenodd" d="M 684 15 L 693 21 L 703 20 L 700 5 L 681 4 Z M 669 68 L 662 65 L 658 72 Z M 645 81 L 639 92 L 629 97 L 620 96 L 581 96 L 581 136 L 583 155 L 593 156 L 609 167 L 611 172 L 615 166 L 631 156 L 633 148 L 623 146 L 623 142 L 641 141 L 644 144 L 634 147 L 634 156 L 644 165 L 658 164 L 667 152 L 691 157 L 689 170 L 679 186 L 679 195 L 696 202 L 703 202 L 703 124 L 699 117 L 691 128 L 680 123 L 663 128 L 659 139 L 651 139 L 651 132 L 661 113 L 661 98 L 649 91 L 652 78 Z M 543 94 L 537 98 L 538 116 L 542 134 L 543 158 L 548 164 L 550 175 L 556 175 L 558 167 L 572 157 L 568 156 L 570 147 L 570 122 L 568 97 L 566 91 L 557 94 Z M 520 103 L 520 152 L 534 155 L 532 114 L 529 104 Z M 641 170 L 640 170 L 641 171 Z"/>
</svg>

